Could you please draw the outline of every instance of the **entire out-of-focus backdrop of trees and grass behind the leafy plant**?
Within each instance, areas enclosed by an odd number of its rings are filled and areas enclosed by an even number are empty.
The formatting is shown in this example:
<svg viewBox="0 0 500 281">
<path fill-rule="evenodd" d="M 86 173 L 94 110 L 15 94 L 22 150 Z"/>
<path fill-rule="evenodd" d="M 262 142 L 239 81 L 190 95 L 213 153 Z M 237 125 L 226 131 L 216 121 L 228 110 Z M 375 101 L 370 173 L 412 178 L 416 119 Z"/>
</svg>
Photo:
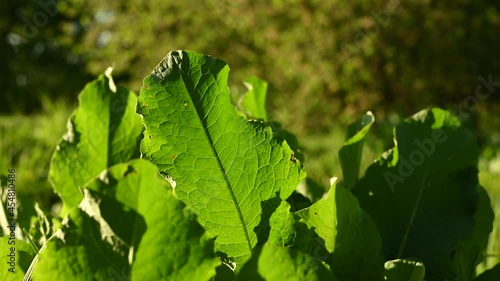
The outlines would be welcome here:
<svg viewBox="0 0 500 281">
<path fill-rule="evenodd" d="M 32 202 L 57 202 L 49 161 L 84 85 L 114 66 L 115 81 L 138 93 L 176 49 L 225 60 L 234 100 L 245 77 L 268 81 L 271 119 L 297 135 L 323 185 L 341 176 L 345 129 L 367 110 L 376 123 L 363 170 L 404 117 L 453 110 L 477 137 L 480 180 L 500 216 L 498 0 L 3 0 L 0 33 L 0 174 L 17 169 L 28 222 Z"/>
</svg>

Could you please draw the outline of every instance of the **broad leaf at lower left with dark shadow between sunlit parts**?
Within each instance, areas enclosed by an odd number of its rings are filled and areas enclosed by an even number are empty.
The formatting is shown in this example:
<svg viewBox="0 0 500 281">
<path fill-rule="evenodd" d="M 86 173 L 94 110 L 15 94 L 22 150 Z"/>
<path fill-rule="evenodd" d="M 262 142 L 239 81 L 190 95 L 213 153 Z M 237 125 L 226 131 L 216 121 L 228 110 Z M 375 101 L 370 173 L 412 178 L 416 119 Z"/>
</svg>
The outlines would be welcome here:
<svg viewBox="0 0 500 281">
<path fill-rule="evenodd" d="M 208 280 L 213 241 L 145 160 L 118 164 L 39 255 L 34 280 Z M 82 211 L 83 210 L 83 211 Z"/>
</svg>

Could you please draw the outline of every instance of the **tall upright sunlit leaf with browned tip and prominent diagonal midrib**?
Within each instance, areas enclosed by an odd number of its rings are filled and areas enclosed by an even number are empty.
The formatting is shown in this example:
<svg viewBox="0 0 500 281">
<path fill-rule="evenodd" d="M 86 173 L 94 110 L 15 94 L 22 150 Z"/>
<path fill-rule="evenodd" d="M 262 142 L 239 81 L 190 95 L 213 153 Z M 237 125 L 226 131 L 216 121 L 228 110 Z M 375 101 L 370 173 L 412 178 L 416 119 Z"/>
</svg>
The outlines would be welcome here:
<svg viewBox="0 0 500 281">
<path fill-rule="evenodd" d="M 231 104 L 228 66 L 174 51 L 144 79 L 138 113 L 141 152 L 172 177 L 216 251 L 237 264 L 267 240 L 269 217 L 305 177 L 293 151 L 270 128 L 247 122 Z"/>
</svg>

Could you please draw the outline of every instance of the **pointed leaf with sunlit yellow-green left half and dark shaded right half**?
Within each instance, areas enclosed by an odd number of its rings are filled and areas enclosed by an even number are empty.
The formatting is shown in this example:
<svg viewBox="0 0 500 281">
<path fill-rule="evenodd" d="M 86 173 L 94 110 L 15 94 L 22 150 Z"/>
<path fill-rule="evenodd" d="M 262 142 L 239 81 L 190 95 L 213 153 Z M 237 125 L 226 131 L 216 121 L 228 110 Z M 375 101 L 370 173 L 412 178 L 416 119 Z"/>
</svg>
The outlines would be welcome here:
<svg viewBox="0 0 500 281">
<path fill-rule="evenodd" d="M 335 185 L 311 207 L 296 213 L 324 241 L 339 280 L 382 280 L 383 260 L 377 229 L 351 192 Z"/>
</svg>

